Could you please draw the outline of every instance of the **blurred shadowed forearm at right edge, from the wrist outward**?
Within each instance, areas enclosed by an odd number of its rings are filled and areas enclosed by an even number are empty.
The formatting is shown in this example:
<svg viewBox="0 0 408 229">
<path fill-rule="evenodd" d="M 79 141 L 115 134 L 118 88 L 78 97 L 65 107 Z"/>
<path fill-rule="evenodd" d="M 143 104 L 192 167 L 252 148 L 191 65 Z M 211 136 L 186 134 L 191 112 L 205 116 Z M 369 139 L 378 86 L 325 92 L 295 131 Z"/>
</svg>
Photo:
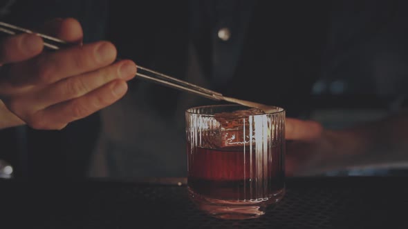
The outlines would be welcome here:
<svg viewBox="0 0 408 229">
<path fill-rule="evenodd" d="M 408 161 L 408 110 L 346 130 L 328 132 L 326 139 L 334 155 L 345 155 L 340 165 Z"/>
</svg>

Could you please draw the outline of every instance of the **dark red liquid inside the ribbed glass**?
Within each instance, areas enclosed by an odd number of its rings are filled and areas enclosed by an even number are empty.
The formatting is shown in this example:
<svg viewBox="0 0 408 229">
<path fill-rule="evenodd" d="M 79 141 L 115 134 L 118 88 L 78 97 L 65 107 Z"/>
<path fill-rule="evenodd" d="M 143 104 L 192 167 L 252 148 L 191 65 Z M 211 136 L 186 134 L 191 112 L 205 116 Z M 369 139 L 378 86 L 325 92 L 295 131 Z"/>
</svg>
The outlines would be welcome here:
<svg viewBox="0 0 408 229">
<path fill-rule="evenodd" d="M 192 148 L 188 186 L 196 195 L 223 200 L 270 199 L 284 188 L 284 148 L 257 152 L 249 146 Z"/>
</svg>

